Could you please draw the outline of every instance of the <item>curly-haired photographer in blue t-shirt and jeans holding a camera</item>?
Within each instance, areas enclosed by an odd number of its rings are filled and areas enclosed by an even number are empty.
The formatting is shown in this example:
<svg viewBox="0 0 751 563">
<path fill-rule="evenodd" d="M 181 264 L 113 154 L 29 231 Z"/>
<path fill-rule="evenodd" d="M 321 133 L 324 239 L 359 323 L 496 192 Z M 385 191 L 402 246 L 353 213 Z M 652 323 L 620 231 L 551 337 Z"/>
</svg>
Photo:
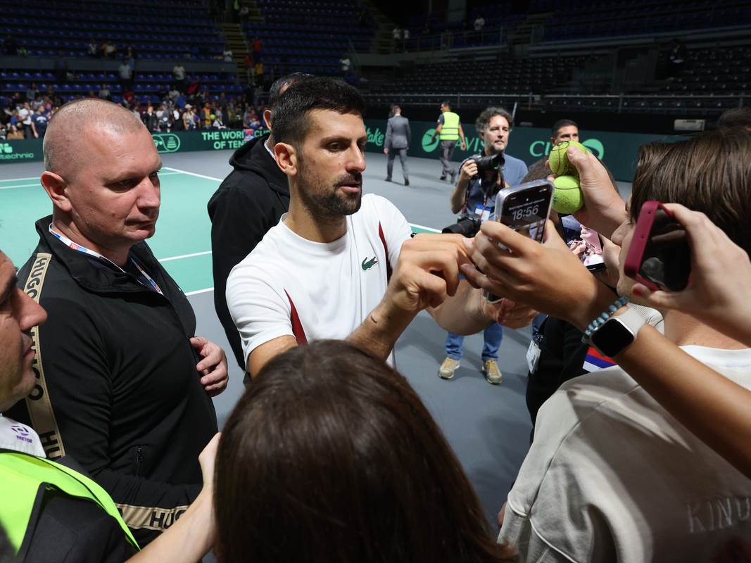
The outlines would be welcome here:
<svg viewBox="0 0 751 563">
<path fill-rule="evenodd" d="M 499 107 L 488 107 L 478 116 L 475 128 L 484 143 L 484 150 L 481 155 L 472 155 L 461 164 L 459 180 L 451 193 L 451 212 L 461 213 L 461 216 L 456 224 L 444 229 L 445 233 L 475 236 L 481 223 L 493 215 L 499 189 L 517 185 L 526 176 L 524 161 L 505 154 L 513 122 L 511 114 Z M 487 382 L 493 385 L 500 384 L 503 379 L 498 367 L 502 338 L 503 328 L 497 323 L 484 330 L 482 372 Z M 462 357 L 463 340 L 463 336 L 448 333 L 446 358 L 438 371 L 441 378 L 454 377 Z"/>
</svg>

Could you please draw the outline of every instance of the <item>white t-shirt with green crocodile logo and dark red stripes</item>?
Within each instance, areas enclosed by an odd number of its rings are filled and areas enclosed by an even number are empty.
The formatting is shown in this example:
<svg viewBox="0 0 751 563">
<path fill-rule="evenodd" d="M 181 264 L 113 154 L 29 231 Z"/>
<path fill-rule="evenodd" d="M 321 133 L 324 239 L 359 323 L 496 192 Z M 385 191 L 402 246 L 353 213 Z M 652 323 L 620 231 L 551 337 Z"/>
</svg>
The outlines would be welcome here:
<svg viewBox="0 0 751 563">
<path fill-rule="evenodd" d="M 246 363 L 255 348 L 279 336 L 298 344 L 347 338 L 383 299 L 388 268 L 412 232 L 399 209 L 374 194 L 363 196 L 360 210 L 347 217 L 347 233 L 334 242 L 303 239 L 285 218 L 227 280 Z"/>
</svg>

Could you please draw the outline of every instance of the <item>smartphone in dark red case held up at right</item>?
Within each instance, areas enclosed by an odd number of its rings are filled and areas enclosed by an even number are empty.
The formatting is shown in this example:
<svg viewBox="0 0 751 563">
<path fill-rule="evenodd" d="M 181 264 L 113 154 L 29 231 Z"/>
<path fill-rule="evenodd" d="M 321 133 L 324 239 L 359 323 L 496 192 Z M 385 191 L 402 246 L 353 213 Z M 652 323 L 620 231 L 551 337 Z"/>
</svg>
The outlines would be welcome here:
<svg viewBox="0 0 751 563">
<path fill-rule="evenodd" d="M 653 291 L 683 291 L 691 276 L 686 229 L 659 201 L 641 206 L 623 272 Z"/>
</svg>

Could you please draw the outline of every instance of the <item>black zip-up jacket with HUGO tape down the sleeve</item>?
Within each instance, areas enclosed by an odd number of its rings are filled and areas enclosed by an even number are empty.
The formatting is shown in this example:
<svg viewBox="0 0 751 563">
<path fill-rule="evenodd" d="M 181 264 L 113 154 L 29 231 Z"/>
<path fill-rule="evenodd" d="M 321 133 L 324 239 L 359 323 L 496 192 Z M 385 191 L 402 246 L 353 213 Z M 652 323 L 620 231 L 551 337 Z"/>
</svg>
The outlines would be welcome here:
<svg viewBox="0 0 751 563">
<path fill-rule="evenodd" d="M 51 222 L 37 221 L 39 245 L 18 274 L 49 315 L 32 331 L 38 381 L 7 414 L 38 432 L 50 459 L 73 456 L 143 545 L 200 492 L 198 454 L 217 431 L 189 341 L 195 315 L 146 242 L 130 256 L 164 295 L 71 250 Z"/>
</svg>

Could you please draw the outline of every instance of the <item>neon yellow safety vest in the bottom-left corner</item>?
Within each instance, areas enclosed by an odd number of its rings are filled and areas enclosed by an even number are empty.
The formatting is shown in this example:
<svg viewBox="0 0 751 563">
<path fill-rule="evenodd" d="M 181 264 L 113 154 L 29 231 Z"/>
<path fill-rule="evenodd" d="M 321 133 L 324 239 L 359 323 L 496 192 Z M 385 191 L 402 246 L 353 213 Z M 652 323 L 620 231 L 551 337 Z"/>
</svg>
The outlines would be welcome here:
<svg viewBox="0 0 751 563">
<path fill-rule="evenodd" d="M 0 524 L 5 528 L 15 552 L 18 552 L 26 537 L 40 489 L 49 486 L 71 497 L 98 504 L 116 519 L 128 542 L 139 549 L 110 495 L 89 477 L 50 459 L 3 451 L 0 452 Z"/>
</svg>

